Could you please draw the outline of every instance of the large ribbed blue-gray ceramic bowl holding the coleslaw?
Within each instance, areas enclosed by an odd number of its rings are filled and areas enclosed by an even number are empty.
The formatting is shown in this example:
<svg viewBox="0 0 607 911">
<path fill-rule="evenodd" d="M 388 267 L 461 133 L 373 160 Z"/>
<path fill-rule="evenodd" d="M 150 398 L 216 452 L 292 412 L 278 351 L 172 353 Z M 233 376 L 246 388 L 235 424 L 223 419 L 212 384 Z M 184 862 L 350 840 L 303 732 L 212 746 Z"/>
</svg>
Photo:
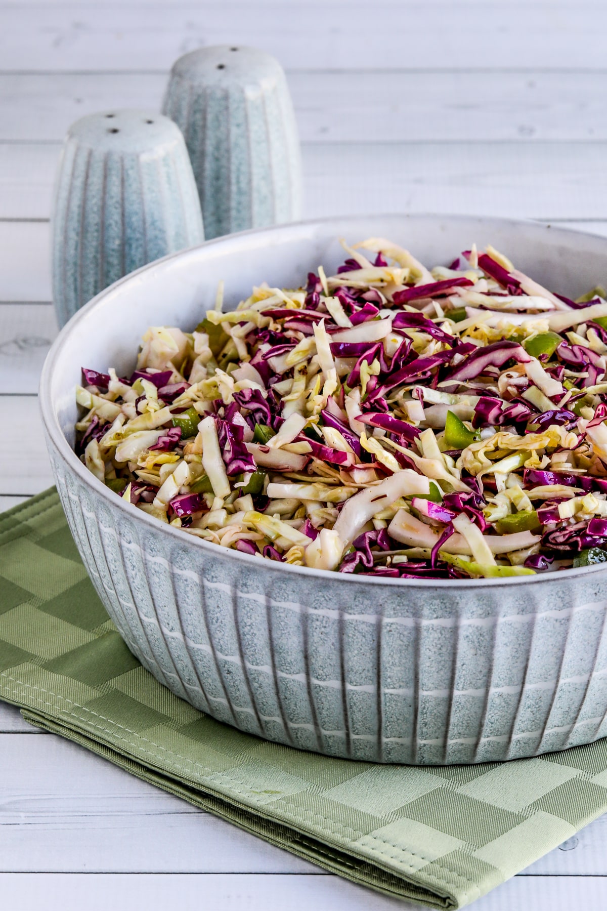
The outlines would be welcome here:
<svg viewBox="0 0 607 911">
<path fill-rule="evenodd" d="M 293 286 L 384 236 L 424 262 L 492 243 L 575 296 L 607 280 L 607 240 L 520 221 L 374 216 L 209 241 L 116 282 L 59 334 L 40 400 L 69 525 L 128 647 L 159 681 L 242 731 L 381 763 L 479 763 L 607 734 L 607 569 L 496 580 L 372 579 L 284 566 L 126 504 L 72 450 L 80 366 L 118 374 L 149 324 L 191 328 L 226 280 Z"/>
</svg>

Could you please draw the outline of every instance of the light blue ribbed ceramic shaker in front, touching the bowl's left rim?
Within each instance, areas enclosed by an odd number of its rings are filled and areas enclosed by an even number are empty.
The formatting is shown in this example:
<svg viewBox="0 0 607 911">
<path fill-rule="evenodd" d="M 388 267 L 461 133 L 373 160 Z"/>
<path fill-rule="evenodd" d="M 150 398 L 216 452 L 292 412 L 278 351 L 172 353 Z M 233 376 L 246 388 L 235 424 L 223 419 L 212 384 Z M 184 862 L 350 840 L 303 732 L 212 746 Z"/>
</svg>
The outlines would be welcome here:
<svg viewBox="0 0 607 911">
<path fill-rule="evenodd" d="M 127 272 L 204 239 L 187 148 L 172 120 L 109 110 L 69 128 L 53 215 L 60 326 Z"/>
</svg>

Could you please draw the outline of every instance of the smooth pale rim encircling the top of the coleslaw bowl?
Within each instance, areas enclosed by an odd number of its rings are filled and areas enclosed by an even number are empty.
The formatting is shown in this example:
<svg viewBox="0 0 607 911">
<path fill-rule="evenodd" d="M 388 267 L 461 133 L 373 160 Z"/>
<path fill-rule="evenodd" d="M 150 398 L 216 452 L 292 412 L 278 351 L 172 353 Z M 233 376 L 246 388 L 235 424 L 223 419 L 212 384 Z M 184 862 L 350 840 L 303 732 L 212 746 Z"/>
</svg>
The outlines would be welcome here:
<svg viewBox="0 0 607 911">
<path fill-rule="evenodd" d="M 81 307 L 71 319 L 66 322 L 66 325 L 57 335 L 55 342 L 52 344 L 49 352 L 46 355 L 45 363 L 42 368 L 42 373 L 40 374 L 40 383 L 38 386 L 38 401 L 40 412 L 42 415 L 43 424 L 46 429 L 46 434 L 55 445 L 58 453 L 63 457 L 66 464 L 70 469 L 79 476 L 80 480 L 86 485 L 91 487 L 98 496 L 101 496 L 106 500 L 110 507 L 117 507 L 118 509 L 124 509 L 125 513 L 130 518 L 137 517 L 139 522 L 144 523 L 152 531 L 164 531 L 165 534 L 169 536 L 172 544 L 178 545 L 184 542 L 184 532 L 179 528 L 172 527 L 160 522 L 158 519 L 147 515 L 141 509 L 133 506 L 130 503 L 126 503 L 121 497 L 116 496 L 116 494 L 110 490 L 108 486 L 103 484 L 91 471 L 89 471 L 86 466 L 80 461 L 75 451 L 69 445 L 66 440 L 61 426 L 57 420 L 56 411 L 53 407 L 53 402 L 50 396 L 50 377 L 53 374 L 54 366 L 57 360 L 61 356 L 62 348 L 69 334 L 72 332 L 74 327 L 83 320 L 86 320 L 86 316 L 93 308 L 96 308 L 100 303 L 102 303 L 106 297 L 113 295 L 116 291 L 121 288 L 123 285 L 130 283 L 137 279 L 137 276 L 141 275 L 147 271 L 153 271 L 158 267 L 161 267 L 167 261 L 173 261 L 179 258 L 186 259 L 188 256 L 194 256 L 197 251 L 201 249 L 212 249 L 214 246 L 221 245 L 222 247 L 232 245 L 238 247 L 238 242 L 243 238 L 250 236 L 260 236 L 265 235 L 268 238 L 271 238 L 273 234 L 285 234 L 286 232 L 292 230 L 294 233 L 301 228 L 312 228 L 315 226 L 322 227 L 323 225 L 329 225 L 335 221 L 347 222 L 351 220 L 353 222 L 369 219 L 393 219 L 393 218 L 403 218 L 403 219 L 429 219 L 435 218 L 442 221 L 446 220 L 478 220 L 479 222 L 491 222 L 492 224 L 504 225 L 504 226 L 525 226 L 525 227 L 537 227 L 538 230 L 550 230 L 551 233 L 558 233 L 563 236 L 563 239 L 567 236 L 579 238 L 582 237 L 592 238 L 594 240 L 602 241 L 607 248 L 607 238 L 601 234 L 595 234 L 591 231 L 578 231 L 567 228 L 561 228 L 561 225 L 552 226 L 550 223 L 535 221 L 532 219 L 511 219 L 511 218 L 501 218 L 501 217 L 492 217 L 485 216 L 480 214 L 465 214 L 465 213 L 442 213 L 442 212 L 386 212 L 386 213 L 367 213 L 360 215 L 335 215 L 328 218 L 322 219 L 307 219 L 301 221 L 293 221 L 288 224 L 283 225 L 273 225 L 269 228 L 254 228 L 250 230 L 238 231 L 238 233 L 223 235 L 218 238 L 214 238 L 210 241 L 204 241 L 203 243 L 197 244 L 194 247 L 189 247 L 187 250 L 177 251 L 176 253 L 169 253 L 167 256 L 162 257 L 159 260 L 153 262 L 148 262 L 147 265 L 142 266 L 136 271 L 129 272 L 123 278 L 118 279 L 113 284 L 108 285 L 102 292 L 96 294 L 84 307 Z M 606 250 L 607 251 L 607 250 Z M 147 327 L 142 326 L 142 332 L 145 331 Z M 135 516 L 130 512 L 131 509 L 134 509 Z M 541 582 L 549 582 L 555 580 L 556 578 L 575 578 L 577 576 L 586 576 L 589 572 L 596 573 L 604 570 L 605 564 L 597 563 L 594 566 L 588 567 L 577 567 L 577 568 L 568 568 L 568 569 L 559 569 L 556 572 L 548 573 L 538 573 L 534 576 L 507 576 L 503 578 L 387 578 L 387 577 L 373 577 L 373 576 L 361 576 L 358 573 L 338 573 L 335 570 L 329 569 L 317 569 L 312 567 L 298 567 L 293 566 L 288 563 L 280 563 L 278 560 L 266 560 L 263 557 L 254 557 L 252 554 L 245 554 L 240 550 L 235 550 L 233 548 L 222 548 L 218 544 L 213 544 L 211 541 L 206 541 L 203 538 L 196 537 L 195 535 L 187 535 L 187 542 L 192 544 L 194 547 L 202 548 L 207 551 L 209 557 L 218 556 L 221 553 L 223 556 L 233 558 L 235 560 L 241 561 L 245 566 L 258 566 L 258 561 L 263 559 L 265 562 L 271 563 L 272 568 L 275 568 L 277 571 L 291 573 L 295 575 L 303 574 L 307 578 L 319 578 L 325 580 L 337 579 L 343 580 L 347 583 L 358 584 L 358 585 L 376 585 L 376 586 L 389 586 L 390 588 L 403 588 L 403 589 L 466 589 L 472 588 L 475 590 L 478 589 L 495 589 L 502 588 L 504 586 L 512 585 L 533 585 L 540 584 Z M 337 578 L 336 578 L 337 577 Z"/>
</svg>

